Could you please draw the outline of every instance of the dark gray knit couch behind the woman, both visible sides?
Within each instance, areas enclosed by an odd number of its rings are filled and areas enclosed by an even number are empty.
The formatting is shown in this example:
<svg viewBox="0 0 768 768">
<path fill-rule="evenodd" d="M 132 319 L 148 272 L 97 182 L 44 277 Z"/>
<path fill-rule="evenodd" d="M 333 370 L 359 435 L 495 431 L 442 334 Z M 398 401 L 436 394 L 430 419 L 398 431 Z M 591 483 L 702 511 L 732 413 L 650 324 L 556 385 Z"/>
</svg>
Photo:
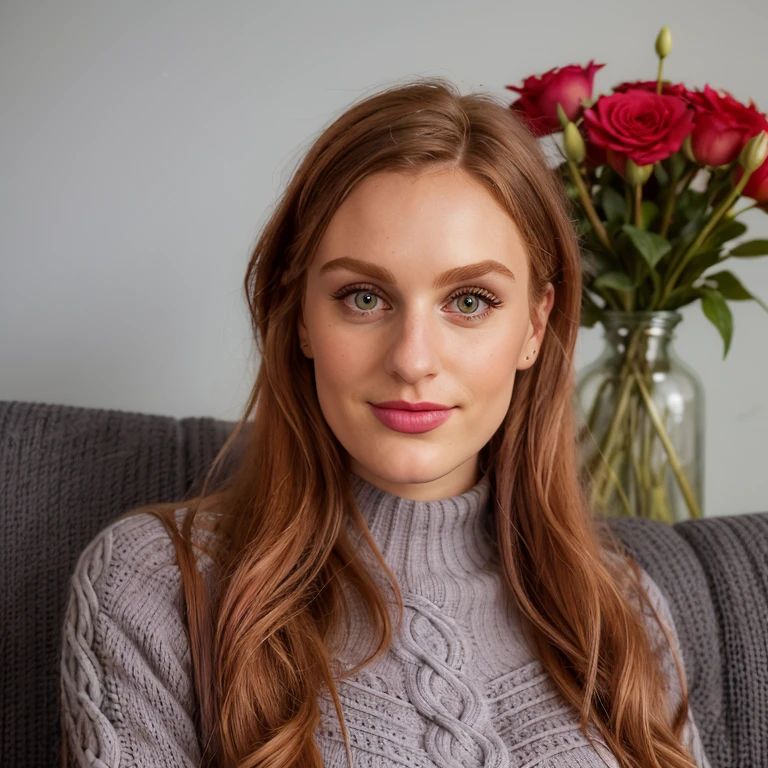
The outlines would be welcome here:
<svg viewBox="0 0 768 768">
<path fill-rule="evenodd" d="M 0 401 L 0 766 L 60 763 L 59 626 L 79 553 L 121 512 L 181 498 L 233 426 Z M 670 602 L 712 768 L 768 768 L 768 512 L 610 524 Z"/>
</svg>

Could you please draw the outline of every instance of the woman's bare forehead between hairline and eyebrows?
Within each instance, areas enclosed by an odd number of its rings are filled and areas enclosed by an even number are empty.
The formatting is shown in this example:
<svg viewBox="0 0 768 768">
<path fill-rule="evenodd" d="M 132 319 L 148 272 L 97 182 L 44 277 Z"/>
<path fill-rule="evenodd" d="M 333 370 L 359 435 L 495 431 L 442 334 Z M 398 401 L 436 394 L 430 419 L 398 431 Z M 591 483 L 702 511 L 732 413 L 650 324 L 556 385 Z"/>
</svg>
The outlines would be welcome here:
<svg viewBox="0 0 768 768">
<path fill-rule="evenodd" d="M 527 261 L 512 217 L 485 186 L 461 169 L 363 179 L 333 215 L 315 269 L 334 258 L 435 269 L 494 259 L 519 272 Z"/>
</svg>

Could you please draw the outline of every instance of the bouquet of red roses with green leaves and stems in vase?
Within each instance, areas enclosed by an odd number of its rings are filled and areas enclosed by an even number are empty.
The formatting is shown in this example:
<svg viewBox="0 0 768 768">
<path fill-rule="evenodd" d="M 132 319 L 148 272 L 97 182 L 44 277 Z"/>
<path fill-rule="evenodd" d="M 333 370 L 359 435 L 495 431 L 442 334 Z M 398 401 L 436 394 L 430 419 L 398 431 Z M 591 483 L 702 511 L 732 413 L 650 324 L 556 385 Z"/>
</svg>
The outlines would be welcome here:
<svg viewBox="0 0 768 768">
<path fill-rule="evenodd" d="M 722 269 L 733 257 L 768 255 L 768 240 L 729 245 L 747 230 L 740 214 L 768 212 L 768 118 L 751 101 L 742 104 L 726 91 L 708 85 L 691 91 L 664 80 L 671 45 L 664 27 L 656 40 L 656 79 L 621 83 L 595 100 L 593 80 L 605 65 L 594 61 L 506 87 L 520 94 L 510 108 L 531 131 L 555 138 L 558 169 L 581 235 L 581 325 L 592 327 L 605 311 L 677 310 L 700 301 L 722 337 L 725 358 L 733 332 L 728 301 L 751 299 L 768 311 Z M 741 198 L 746 201 L 739 207 Z M 616 479 L 605 457 L 622 425 L 627 427 L 635 392 L 677 470 L 691 514 L 700 514 L 654 412 L 653 382 L 642 370 L 640 344 L 639 338 L 628 342 L 616 412 L 591 460 L 596 493 L 604 496 L 605 484 Z"/>
</svg>

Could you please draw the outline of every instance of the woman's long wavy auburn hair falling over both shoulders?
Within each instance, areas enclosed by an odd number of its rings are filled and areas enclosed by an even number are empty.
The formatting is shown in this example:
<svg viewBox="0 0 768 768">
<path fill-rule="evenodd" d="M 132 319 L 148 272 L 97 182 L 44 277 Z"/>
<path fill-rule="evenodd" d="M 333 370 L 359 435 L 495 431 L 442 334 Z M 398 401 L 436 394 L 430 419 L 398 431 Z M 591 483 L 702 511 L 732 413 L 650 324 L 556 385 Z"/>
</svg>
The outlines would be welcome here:
<svg viewBox="0 0 768 768">
<path fill-rule="evenodd" d="M 555 284 L 540 356 L 518 371 L 504 421 L 481 451 L 505 579 L 531 647 L 579 712 L 584 735 L 593 724 L 622 766 L 695 768 L 681 744 L 688 710 L 681 661 L 672 647 L 682 699 L 670 713 L 662 668 L 631 595 L 650 607 L 670 646 L 671 637 L 637 564 L 591 514 L 578 469 L 573 361 L 581 262 L 569 201 L 508 107 L 490 94 L 461 95 L 442 78 L 361 99 L 312 144 L 247 268 L 261 364 L 242 419 L 202 490 L 198 484 L 182 502 L 126 513 L 158 517 L 175 546 L 201 765 L 320 768 L 313 735 L 325 685 L 352 766 L 329 646 L 349 616 L 344 593 L 351 588 L 362 598 L 379 640 L 344 677 L 386 653 L 403 604 L 357 507 L 346 451 L 323 418 L 312 361 L 299 349 L 298 319 L 315 248 L 355 185 L 378 171 L 439 167 L 471 174 L 517 224 L 530 263 L 529 306 L 548 281 Z M 188 510 L 181 529 L 180 503 Z M 192 540 L 197 513 L 207 511 L 219 543 L 207 550 L 219 568 L 214 590 L 201 578 Z M 210 525 L 206 519 L 200 515 L 201 528 Z M 392 583 L 394 628 L 347 521 Z"/>
</svg>

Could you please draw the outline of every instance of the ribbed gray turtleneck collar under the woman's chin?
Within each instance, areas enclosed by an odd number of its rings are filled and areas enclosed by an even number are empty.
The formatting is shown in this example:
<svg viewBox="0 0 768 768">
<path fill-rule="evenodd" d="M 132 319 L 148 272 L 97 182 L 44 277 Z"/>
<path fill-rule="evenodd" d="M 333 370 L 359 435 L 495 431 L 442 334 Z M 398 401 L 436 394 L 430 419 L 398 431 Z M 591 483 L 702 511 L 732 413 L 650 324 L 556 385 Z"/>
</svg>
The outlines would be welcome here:
<svg viewBox="0 0 768 768">
<path fill-rule="evenodd" d="M 368 529 L 402 586 L 428 573 L 461 578 L 493 557 L 488 474 L 468 491 L 434 501 L 396 496 L 355 473 L 350 480 Z"/>
</svg>

